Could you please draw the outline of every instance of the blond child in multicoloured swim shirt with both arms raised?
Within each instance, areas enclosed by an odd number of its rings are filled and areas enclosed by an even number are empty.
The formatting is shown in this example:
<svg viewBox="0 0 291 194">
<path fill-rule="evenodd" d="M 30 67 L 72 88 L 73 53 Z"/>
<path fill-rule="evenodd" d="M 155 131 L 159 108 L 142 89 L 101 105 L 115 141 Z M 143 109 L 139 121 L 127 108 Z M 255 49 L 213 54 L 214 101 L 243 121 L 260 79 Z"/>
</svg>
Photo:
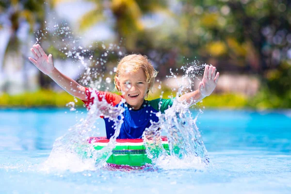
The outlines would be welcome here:
<svg viewBox="0 0 291 194">
<path fill-rule="evenodd" d="M 121 95 L 117 95 L 111 92 L 94 91 L 65 76 L 54 67 L 51 54 L 47 56 L 40 45 L 33 45 L 31 51 L 34 59 L 29 57 L 29 60 L 32 64 L 47 74 L 69 94 L 80 98 L 87 108 L 94 102 L 94 97 L 91 97 L 92 92 L 97 94 L 99 101 L 104 97 L 112 106 L 116 106 L 122 98 L 125 99 L 126 103 L 121 105 L 125 111 L 123 112 L 124 122 L 117 137 L 119 139 L 142 138 L 144 130 L 151 125 L 150 120 L 154 122 L 159 120 L 155 113 L 159 111 L 163 113 L 164 110 L 172 106 L 171 99 L 145 100 L 157 76 L 157 71 L 146 56 L 132 54 L 125 56 L 118 63 L 114 84 Z M 218 78 L 219 73 L 216 73 L 215 67 L 206 65 L 198 90 L 182 95 L 178 97 L 178 100 L 185 100 L 189 106 L 192 106 L 212 93 Z M 160 109 L 159 103 L 161 103 Z M 108 118 L 104 118 L 104 121 L 107 138 L 109 139 L 114 134 L 113 121 Z"/>
</svg>

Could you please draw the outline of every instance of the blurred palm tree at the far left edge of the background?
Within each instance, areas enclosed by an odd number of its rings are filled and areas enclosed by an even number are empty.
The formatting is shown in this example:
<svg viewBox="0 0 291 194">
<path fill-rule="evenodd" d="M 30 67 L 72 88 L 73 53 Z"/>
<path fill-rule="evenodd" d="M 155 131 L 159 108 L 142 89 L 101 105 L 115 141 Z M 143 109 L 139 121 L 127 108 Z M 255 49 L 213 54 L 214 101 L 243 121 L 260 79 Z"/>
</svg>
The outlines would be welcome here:
<svg viewBox="0 0 291 194">
<path fill-rule="evenodd" d="M 26 40 L 21 40 L 21 26 L 24 23 L 29 24 L 29 32 L 34 31 L 35 25 L 43 26 L 45 20 L 45 0 L 4 0 L 0 2 L 0 10 L 2 18 L 2 28 L 9 30 L 7 45 L 5 45 L 4 60 L 1 69 L 21 69 L 24 77 L 24 88 L 27 88 L 27 75 L 25 71 L 26 56 L 22 55 L 23 47 L 26 47 Z M 4 18 L 4 19 L 3 19 Z M 25 32 L 22 32 L 25 33 Z M 20 34 L 23 35 L 23 34 Z M 26 37 L 28 34 L 24 34 Z M 11 88 L 9 81 L 4 84 L 3 90 L 7 92 Z"/>
</svg>

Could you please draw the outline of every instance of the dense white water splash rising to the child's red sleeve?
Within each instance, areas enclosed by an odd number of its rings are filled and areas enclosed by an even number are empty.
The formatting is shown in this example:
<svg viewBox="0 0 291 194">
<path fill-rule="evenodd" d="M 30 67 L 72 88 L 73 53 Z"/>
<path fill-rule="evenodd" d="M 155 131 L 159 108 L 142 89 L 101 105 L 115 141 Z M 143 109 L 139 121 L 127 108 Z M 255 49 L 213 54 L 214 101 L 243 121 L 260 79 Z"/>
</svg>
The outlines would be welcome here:
<svg viewBox="0 0 291 194">
<path fill-rule="evenodd" d="M 80 123 L 69 129 L 64 136 L 56 139 L 49 159 L 40 166 L 41 170 L 51 171 L 55 169 L 73 172 L 96 170 L 108 160 L 120 132 L 124 109 L 119 106 L 120 104 L 117 107 L 112 107 L 104 99 L 99 101 L 97 95 L 95 99 L 88 111 L 87 118 L 81 119 Z M 88 144 L 87 139 L 90 136 L 98 135 L 99 129 L 94 129 L 94 123 L 100 116 L 114 121 L 115 132 L 108 146 L 102 150 L 95 150 L 93 144 Z"/>
</svg>

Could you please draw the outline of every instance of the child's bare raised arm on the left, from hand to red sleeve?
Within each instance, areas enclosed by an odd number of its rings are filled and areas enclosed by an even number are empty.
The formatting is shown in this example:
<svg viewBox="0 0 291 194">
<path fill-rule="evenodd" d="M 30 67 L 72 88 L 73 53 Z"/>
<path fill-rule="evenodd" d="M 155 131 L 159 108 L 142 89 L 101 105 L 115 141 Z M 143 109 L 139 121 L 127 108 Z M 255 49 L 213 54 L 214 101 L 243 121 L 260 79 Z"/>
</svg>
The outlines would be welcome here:
<svg viewBox="0 0 291 194">
<path fill-rule="evenodd" d="M 47 54 L 38 44 L 33 45 L 31 51 L 34 59 L 32 59 L 31 57 L 29 57 L 28 59 L 32 62 L 33 65 L 35 65 L 44 74 L 48 75 L 53 81 L 55 81 L 70 95 L 87 101 L 85 87 L 81 86 L 73 79 L 65 76 L 57 68 L 55 68 L 53 65 L 51 54 L 47 56 Z"/>
</svg>

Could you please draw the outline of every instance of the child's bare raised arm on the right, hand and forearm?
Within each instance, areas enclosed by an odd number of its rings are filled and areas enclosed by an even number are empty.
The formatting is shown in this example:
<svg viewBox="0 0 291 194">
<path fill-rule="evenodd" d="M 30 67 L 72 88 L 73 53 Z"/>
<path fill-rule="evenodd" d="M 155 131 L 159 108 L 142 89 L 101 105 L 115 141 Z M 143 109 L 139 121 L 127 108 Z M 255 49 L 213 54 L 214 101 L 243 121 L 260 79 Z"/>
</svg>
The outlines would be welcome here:
<svg viewBox="0 0 291 194">
<path fill-rule="evenodd" d="M 218 82 L 219 72 L 216 73 L 216 68 L 212 65 L 206 65 L 204 69 L 204 75 L 202 81 L 199 83 L 199 87 L 196 91 L 182 95 L 178 98 L 179 101 L 186 100 L 190 106 L 196 104 L 204 97 L 209 96 L 216 87 Z"/>
</svg>

